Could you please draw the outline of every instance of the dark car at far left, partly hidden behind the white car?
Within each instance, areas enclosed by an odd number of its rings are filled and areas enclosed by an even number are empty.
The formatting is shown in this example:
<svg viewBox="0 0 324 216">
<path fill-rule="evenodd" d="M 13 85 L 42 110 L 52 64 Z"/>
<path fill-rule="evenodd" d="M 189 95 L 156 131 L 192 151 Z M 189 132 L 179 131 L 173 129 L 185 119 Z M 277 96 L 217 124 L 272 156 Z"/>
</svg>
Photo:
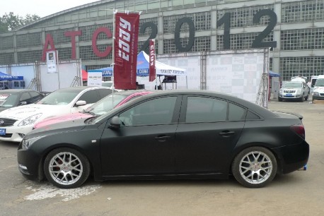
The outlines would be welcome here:
<svg viewBox="0 0 324 216">
<path fill-rule="evenodd" d="M 40 92 L 30 89 L 0 90 L 0 112 L 11 107 L 33 104 L 43 97 Z"/>
</svg>

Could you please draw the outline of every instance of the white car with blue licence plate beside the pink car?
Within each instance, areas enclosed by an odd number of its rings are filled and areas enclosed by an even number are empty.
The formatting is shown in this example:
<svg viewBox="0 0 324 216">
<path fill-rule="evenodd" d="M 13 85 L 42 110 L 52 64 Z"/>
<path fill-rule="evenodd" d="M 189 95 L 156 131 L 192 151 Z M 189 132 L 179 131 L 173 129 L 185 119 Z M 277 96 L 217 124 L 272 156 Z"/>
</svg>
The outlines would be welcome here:
<svg viewBox="0 0 324 216">
<path fill-rule="evenodd" d="M 62 88 L 35 104 L 6 109 L 0 113 L 0 140 L 20 142 L 37 122 L 52 116 L 81 112 L 111 92 L 107 87 Z"/>
</svg>

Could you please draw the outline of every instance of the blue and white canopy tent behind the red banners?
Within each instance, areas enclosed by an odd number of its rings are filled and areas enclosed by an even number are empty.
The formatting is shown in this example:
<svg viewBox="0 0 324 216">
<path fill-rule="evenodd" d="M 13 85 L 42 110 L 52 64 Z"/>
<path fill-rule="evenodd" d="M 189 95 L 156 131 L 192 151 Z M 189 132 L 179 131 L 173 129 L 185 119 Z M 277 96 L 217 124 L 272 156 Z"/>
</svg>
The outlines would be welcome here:
<svg viewBox="0 0 324 216">
<path fill-rule="evenodd" d="M 88 72 L 103 72 L 103 77 L 112 76 L 112 67 L 88 70 Z M 156 61 L 156 74 L 161 76 L 186 75 L 184 69 L 168 66 L 159 61 Z M 137 76 L 149 76 L 149 56 L 144 51 L 137 55 Z"/>
</svg>

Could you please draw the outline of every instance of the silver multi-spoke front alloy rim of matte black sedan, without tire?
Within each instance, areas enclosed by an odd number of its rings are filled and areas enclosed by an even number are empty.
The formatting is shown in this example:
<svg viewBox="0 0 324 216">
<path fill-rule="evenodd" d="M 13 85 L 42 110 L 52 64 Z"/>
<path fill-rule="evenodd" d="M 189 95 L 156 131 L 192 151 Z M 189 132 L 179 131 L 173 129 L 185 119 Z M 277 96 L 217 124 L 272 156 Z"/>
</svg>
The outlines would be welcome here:
<svg viewBox="0 0 324 216">
<path fill-rule="evenodd" d="M 71 152 L 59 152 L 54 155 L 48 169 L 52 179 L 62 185 L 74 184 L 83 173 L 81 160 Z"/>
</svg>

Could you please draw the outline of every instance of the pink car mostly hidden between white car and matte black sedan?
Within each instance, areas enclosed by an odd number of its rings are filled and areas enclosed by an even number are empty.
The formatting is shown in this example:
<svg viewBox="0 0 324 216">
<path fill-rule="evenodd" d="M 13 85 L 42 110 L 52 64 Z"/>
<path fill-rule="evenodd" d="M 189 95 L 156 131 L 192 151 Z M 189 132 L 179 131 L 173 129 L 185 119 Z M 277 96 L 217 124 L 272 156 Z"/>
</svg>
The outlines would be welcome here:
<svg viewBox="0 0 324 216">
<path fill-rule="evenodd" d="M 141 95 L 147 95 L 152 93 L 152 91 L 148 90 L 129 90 L 129 91 L 122 91 L 122 92 L 114 92 L 114 94 L 110 94 L 104 97 L 102 100 L 99 100 L 91 107 L 83 110 L 83 112 L 73 113 L 73 114 L 65 114 L 62 116 L 52 116 L 47 119 L 44 119 L 37 124 L 35 124 L 35 128 L 40 127 L 48 127 L 51 124 L 59 123 L 62 121 L 71 121 L 75 119 L 88 119 L 93 116 L 100 116 L 102 114 L 107 113 L 111 109 L 115 107 L 119 107 L 130 100 L 133 100 Z"/>
</svg>

